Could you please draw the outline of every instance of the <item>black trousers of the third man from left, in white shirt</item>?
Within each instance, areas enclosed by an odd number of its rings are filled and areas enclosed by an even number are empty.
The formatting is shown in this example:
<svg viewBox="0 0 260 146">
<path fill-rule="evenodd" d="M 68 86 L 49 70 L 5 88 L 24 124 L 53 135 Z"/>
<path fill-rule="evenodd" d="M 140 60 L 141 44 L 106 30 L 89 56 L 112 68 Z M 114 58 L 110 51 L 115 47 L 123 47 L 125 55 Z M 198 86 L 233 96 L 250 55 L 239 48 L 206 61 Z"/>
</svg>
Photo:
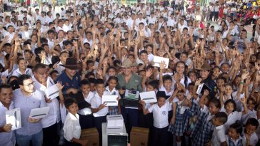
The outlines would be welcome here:
<svg viewBox="0 0 260 146">
<path fill-rule="evenodd" d="M 43 128 L 43 132 L 44 132 L 43 146 L 59 145 L 58 125 L 59 123 L 55 123 L 50 127 Z"/>
</svg>

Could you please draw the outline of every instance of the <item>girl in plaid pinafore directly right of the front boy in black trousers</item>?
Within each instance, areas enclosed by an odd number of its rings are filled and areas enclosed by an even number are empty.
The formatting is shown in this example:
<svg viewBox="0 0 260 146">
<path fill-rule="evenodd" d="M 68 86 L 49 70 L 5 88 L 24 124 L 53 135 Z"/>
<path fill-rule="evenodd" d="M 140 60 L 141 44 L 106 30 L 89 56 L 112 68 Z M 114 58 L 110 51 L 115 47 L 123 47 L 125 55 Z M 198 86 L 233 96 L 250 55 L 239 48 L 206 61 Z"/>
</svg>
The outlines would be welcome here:
<svg viewBox="0 0 260 146">
<path fill-rule="evenodd" d="M 169 126 L 168 131 L 176 136 L 177 146 L 181 146 L 181 136 L 184 135 L 186 129 L 184 129 L 184 112 L 188 105 L 184 105 L 185 100 L 191 100 L 191 94 L 185 98 L 184 91 L 181 88 L 176 88 L 177 94 L 174 98 L 174 103 L 172 104 L 172 109 L 174 116 L 171 118 L 171 125 Z"/>
</svg>

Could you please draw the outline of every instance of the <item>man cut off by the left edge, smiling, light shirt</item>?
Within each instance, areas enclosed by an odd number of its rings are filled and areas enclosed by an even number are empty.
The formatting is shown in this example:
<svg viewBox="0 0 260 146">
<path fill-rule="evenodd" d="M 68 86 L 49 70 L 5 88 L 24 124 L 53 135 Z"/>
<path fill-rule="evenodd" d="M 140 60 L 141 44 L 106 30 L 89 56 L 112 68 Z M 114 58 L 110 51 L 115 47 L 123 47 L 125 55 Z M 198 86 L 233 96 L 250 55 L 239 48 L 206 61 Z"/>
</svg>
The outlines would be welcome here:
<svg viewBox="0 0 260 146">
<path fill-rule="evenodd" d="M 14 146 L 15 134 L 12 125 L 6 123 L 6 111 L 14 108 L 13 90 L 11 85 L 0 85 L 0 145 Z"/>
</svg>

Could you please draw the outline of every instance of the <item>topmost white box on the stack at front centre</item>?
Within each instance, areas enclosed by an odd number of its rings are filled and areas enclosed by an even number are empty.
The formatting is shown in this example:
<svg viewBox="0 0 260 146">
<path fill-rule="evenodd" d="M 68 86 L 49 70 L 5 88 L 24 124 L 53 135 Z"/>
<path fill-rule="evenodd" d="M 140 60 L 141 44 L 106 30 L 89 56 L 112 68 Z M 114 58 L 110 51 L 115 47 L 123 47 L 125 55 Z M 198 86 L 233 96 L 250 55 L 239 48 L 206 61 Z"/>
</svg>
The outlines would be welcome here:
<svg viewBox="0 0 260 146">
<path fill-rule="evenodd" d="M 122 115 L 107 115 L 107 127 L 123 127 L 124 119 Z"/>
</svg>

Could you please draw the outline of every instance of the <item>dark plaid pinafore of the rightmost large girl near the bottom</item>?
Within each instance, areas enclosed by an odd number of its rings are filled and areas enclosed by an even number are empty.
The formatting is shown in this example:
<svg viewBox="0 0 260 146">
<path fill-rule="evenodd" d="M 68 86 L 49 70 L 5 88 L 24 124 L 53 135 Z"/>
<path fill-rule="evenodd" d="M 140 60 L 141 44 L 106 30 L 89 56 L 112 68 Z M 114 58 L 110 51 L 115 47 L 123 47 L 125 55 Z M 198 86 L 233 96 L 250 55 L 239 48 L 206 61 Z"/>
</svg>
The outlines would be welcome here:
<svg viewBox="0 0 260 146">
<path fill-rule="evenodd" d="M 198 120 L 194 126 L 194 130 L 191 132 L 191 138 L 193 138 L 192 145 L 204 146 L 211 139 L 214 125 L 212 124 L 211 120 L 207 120 L 210 116 L 209 114 L 209 110 L 206 112 L 199 112 Z"/>
</svg>

